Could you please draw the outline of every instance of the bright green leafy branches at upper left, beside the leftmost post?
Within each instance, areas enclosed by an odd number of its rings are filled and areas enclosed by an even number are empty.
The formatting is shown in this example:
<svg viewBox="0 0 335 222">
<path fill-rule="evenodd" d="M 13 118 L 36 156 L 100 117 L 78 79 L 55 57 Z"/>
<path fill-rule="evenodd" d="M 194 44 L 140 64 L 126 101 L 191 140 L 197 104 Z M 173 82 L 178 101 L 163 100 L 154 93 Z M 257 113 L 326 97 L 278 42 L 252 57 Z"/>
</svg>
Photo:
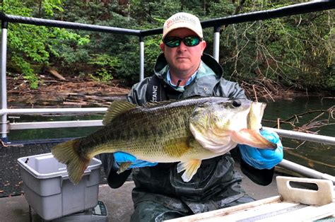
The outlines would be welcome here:
<svg viewBox="0 0 335 222">
<path fill-rule="evenodd" d="M 61 0 L 41 0 L 35 1 L 15 1 L 7 0 L 1 4 L 1 10 L 4 13 L 33 16 L 36 8 L 29 8 L 32 4 L 38 4 L 46 16 L 52 16 L 52 10 L 60 10 Z M 24 77 L 30 81 L 32 88 L 37 88 L 38 78 L 33 64 L 47 66 L 50 56 L 59 56 L 54 49 L 54 45 L 59 41 L 76 42 L 78 45 L 86 44 L 89 40 L 87 37 L 81 37 L 76 33 L 70 33 L 60 28 L 48 28 L 44 26 L 23 25 L 19 23 L 10 23 L 8 25 L 8 62 L 9 66 L 16 66 L 23 72 Z"/>
</svg>

